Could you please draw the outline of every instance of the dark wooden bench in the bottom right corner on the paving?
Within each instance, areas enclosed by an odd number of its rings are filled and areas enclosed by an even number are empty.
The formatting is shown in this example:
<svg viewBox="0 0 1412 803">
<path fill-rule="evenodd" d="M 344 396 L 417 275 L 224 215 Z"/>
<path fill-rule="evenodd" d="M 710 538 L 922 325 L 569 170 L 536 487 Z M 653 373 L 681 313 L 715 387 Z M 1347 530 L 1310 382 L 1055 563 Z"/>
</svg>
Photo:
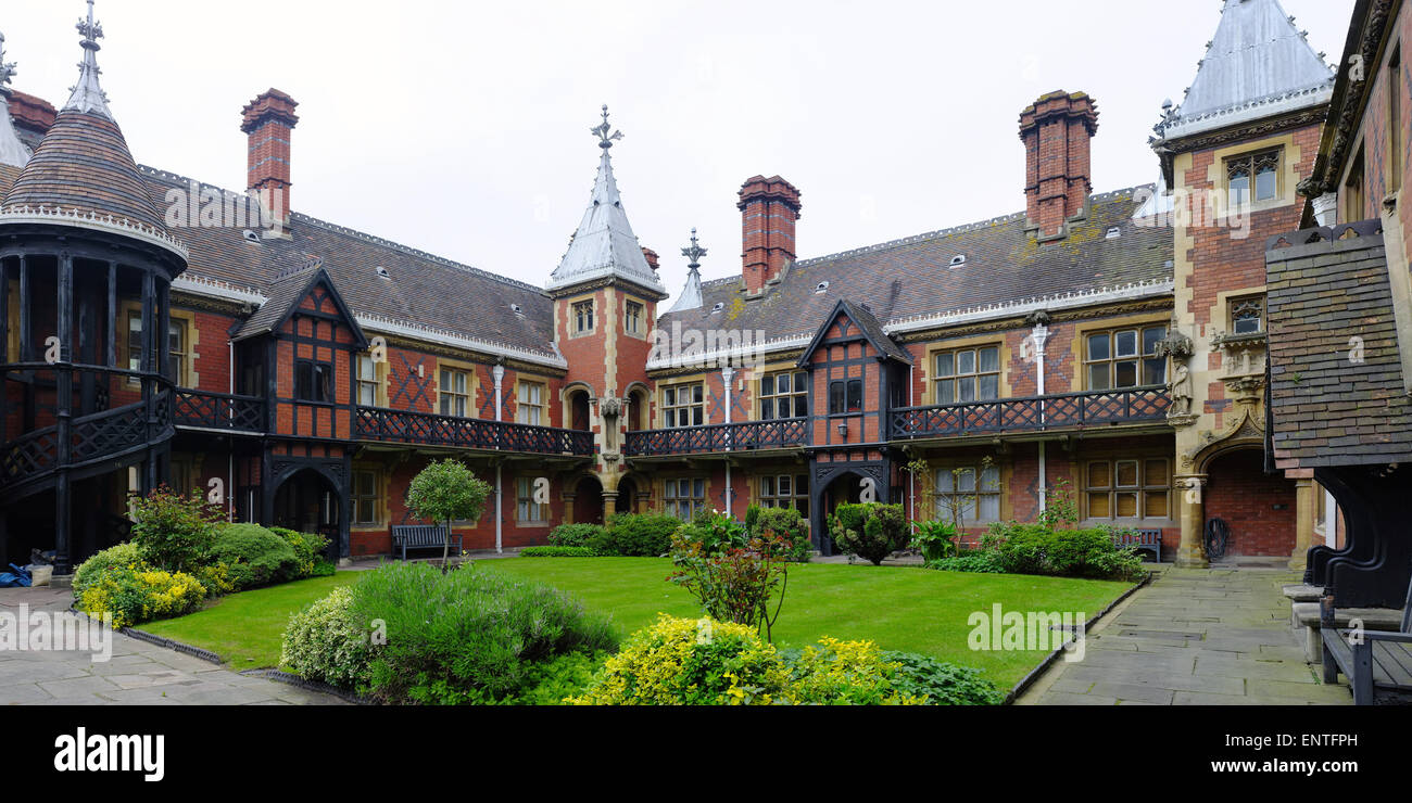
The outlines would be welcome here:
<svg viewBox="0 0 1412 803">
<path fill-rule="evenodd" d="M 1329 605 L 1326 617 L 1333 614 Z M 1320 632 L 1324 683 L 1337 683 L 1341 672 L 1353 686 L 1354 706 L 1412 703 L 1412 583 L 1399 632 L 1334 627 Z"/>
</svg>

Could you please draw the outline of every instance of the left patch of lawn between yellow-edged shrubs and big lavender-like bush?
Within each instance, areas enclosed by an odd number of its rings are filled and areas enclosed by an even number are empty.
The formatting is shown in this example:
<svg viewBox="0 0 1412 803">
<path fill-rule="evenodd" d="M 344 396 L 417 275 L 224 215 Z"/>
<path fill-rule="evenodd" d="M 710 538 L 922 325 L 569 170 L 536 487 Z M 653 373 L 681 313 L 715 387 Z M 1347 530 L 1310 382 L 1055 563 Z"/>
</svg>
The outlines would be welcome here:
<svg viewBox="0 0 1412 803">
<path fill-rule="evenodd" d="M 195 614 L 147 622 L 138 629 L 209 649 L 234 670 L 275 666 L 289 614 L 328 597 L 339 586 L 357 581 L 357 577 L 359 572 L 339 572 L 332 577 L 230 594 Z"/>
</svg>

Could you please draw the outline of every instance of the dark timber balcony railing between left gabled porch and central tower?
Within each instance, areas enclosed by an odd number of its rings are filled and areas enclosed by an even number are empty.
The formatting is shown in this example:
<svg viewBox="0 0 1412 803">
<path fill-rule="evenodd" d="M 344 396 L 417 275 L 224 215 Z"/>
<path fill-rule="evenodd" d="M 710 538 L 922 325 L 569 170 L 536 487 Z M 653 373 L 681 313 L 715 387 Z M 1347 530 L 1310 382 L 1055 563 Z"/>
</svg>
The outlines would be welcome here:
<svg viewBox="0 0 1412 803">
<path fill-rule="evenodd" d="M 593 454 L 592 432 L 370 406 L 357 408 L 353 421 L 353 436 L 360 440 L 453 446 L 491 452 Z"/>
</svg>

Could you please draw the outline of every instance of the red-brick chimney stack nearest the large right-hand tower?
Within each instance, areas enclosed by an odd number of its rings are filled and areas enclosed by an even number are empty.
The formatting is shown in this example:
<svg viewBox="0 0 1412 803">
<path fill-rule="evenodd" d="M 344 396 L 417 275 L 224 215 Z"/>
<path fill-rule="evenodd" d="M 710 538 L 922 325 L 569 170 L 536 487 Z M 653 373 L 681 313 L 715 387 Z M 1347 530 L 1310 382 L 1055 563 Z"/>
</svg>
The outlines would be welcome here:
<svg viewBox="0 0 1412 803">
<path fill-rule="evenodd" d="M 1025 212 L 1041 241 L 1067 236 L 1093 192 L 1089 145 L 1099 106 L 1083 92 L 1051 92 L 1019 113 L 1025 143 Z"/>
</svg>

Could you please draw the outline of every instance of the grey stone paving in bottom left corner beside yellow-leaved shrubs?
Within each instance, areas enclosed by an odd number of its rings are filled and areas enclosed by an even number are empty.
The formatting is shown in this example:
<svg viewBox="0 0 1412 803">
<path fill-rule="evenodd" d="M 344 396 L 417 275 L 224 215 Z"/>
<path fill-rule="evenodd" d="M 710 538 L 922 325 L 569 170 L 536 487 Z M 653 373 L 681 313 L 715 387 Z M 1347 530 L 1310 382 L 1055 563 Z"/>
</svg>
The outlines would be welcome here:
<svg viewBox="0 0 1412 803">
<path fill-rule="evenodd" d="M 0 588 L 0 610 L 65 611 L 68 588 Z M 21 627 L 21 632 L 27 632 Z M 121 634 L 113 659 L 89 652 L 0 651 L 0 706 L 340 706 L 329 694 L 246 677 Z"/>
</svg>

